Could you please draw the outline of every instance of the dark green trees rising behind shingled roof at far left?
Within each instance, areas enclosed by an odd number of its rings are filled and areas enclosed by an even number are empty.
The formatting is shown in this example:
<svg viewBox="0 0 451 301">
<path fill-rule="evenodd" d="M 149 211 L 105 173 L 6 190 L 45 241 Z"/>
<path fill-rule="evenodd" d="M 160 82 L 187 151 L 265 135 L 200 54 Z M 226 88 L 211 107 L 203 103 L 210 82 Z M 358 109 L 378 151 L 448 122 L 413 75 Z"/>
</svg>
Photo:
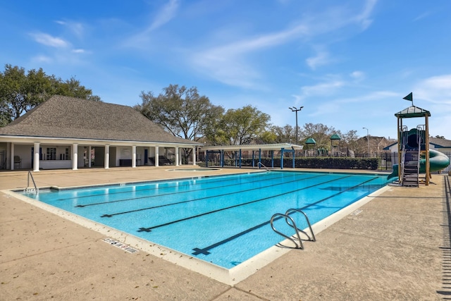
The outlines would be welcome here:
<svg viewBox="0 0 451 301">
<path fill-rule="evenodd" d="M 0 73 L 0 126 L 7 125 L 55 94 L 101 101 L 75 78 L 61 80 L 55 75 L 47 75 L 42 68 L 25 73 L 25 68 L 6 64 L 4 72 Z"/>
</svg>

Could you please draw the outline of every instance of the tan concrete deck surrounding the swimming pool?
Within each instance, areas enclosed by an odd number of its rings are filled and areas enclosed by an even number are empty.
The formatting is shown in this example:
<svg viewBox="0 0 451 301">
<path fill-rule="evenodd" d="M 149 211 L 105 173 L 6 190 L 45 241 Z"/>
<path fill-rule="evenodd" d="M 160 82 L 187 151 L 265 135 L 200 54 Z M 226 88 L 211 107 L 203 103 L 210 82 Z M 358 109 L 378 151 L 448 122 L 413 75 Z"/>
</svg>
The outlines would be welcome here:
<svg viewBox="0 0 451 301">
<path fill-rule="evenodd" d="M 67 187 L 252 171 L 170 167 L 33 176 L 38 187 Z M 26 185 L 27 171 L 0 173 L 0 190 Z M 445 175 L 419 188 L 391 186 L 305 250 L 290 250 L 235 285 L 112 247 L 97 231 L 0 192 L 0 300 L 451 299 L 450 190 Z"/>
</svg>

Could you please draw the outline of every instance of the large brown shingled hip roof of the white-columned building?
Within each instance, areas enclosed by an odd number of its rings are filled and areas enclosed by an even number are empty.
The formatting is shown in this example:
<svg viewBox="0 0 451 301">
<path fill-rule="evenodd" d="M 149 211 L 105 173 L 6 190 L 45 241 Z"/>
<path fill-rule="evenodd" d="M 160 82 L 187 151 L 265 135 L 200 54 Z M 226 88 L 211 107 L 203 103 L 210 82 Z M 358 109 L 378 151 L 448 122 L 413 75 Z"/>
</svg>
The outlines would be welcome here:
<svg viewBox="0 0 451 301">
<path fill-rule="evenodd" d="M 59 95 L 0 128 L 0 137 L 5 135 L 198 145 L 171 135 L 130 106 Z"/>
</svg>

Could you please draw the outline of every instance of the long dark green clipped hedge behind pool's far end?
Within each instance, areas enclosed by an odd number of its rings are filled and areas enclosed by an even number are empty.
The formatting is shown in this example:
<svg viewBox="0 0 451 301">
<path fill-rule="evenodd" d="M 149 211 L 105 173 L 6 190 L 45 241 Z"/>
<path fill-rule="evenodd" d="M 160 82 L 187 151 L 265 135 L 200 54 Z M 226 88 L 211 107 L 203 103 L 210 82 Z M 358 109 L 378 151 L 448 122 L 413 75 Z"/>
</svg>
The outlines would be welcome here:
<svg viewBox="0 0 451 301">
<path fill-rule="evenodd" d="M 257 166 L 259 159 L 254 159 Z M 352 158 L 349 156 L 301 157 L 295 159 L 295 167 L 332 168 L 332 169 L 378 169 L 378 158 Z M 264 166 L 271 167 L 271 159 L 261 158 Z M 235 160 L 226 160 L 224 164 L 235 166 Z M 242 159 L 242 166 L 252 166 L 252 159 Z M 274 159 L 274 167 L 280 167 L 280 159 Z M 292 167 L 292 158 L 283 159 L 283 167 Z"/>
</svg>

